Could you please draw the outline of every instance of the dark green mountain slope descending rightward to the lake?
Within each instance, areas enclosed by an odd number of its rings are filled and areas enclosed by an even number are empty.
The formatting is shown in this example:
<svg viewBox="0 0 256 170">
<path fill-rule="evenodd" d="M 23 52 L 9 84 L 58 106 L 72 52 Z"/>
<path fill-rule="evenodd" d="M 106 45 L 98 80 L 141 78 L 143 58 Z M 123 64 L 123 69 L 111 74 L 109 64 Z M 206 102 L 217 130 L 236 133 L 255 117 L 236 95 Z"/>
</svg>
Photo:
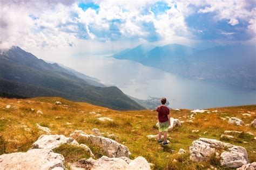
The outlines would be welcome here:
<svg viewBox="0 0 256 170">
<path fill-rule="evenodd" d="M 117 87 L 92 86 L 77 73 L 38 59 L 19 47 L 2 51 L 0 63 L 2 96 L 59 96 L 117 110 L 144 109 Z"/>
</svg>

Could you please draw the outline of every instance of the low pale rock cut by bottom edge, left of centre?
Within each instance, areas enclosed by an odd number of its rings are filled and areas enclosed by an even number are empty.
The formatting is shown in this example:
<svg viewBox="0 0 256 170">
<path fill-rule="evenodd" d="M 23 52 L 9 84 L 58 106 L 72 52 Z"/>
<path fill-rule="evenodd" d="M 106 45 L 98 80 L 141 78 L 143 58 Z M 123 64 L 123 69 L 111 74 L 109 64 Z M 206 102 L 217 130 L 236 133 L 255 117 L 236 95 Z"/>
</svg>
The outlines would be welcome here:
<svg viewBox="0 0 256 170">
<path fill-rule="evenodd" d="M 120 158 L 108 158 L 103 156 L 100 159 L 94 160 L 90 159 L 81 159 L 79 164 L 76 164 L 78 167 L 88 167 L 90 166 L 91 170 L 109 170 L 109 169 L 126 169 L 126 170 L 149 170 L 150 164 L 143 157 L 137 157 L 134 160 L 129 158 L 120 157 Z"/>
</svg>

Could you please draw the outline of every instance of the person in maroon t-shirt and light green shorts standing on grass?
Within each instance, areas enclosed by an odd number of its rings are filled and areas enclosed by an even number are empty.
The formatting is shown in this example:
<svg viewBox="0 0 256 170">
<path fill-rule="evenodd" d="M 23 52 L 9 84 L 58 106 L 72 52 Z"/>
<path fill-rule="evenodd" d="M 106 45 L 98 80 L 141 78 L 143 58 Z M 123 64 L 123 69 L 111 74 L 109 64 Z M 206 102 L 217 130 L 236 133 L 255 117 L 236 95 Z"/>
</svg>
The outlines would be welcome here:
<svg viewBox="0 0 256 170">
<path fill-rule="evenodd" d="M 162 133 L 164 132 L 164 143 L 163 145 L 168 145 L 167 143 L 167 132 L 168 128 L 171 124 L 170 122 L 170 110 L 165 106 L 166 98 L 161 98 L 161 105 L 157 107 L 156 110 L 158 112 L 158 122 L 159 122 L 159 133 L 158 133 L 158 143 L 163 143 L 163 140 L 161 140 Z"/>
</svg>

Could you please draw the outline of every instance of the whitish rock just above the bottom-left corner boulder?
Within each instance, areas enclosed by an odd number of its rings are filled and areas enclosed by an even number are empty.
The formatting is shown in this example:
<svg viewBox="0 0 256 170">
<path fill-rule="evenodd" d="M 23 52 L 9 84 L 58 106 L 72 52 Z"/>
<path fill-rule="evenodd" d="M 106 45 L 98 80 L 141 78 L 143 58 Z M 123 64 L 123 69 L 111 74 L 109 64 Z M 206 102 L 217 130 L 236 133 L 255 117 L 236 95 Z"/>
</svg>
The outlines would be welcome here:
<svg viewBox="0 0 256 170">
<path fill-rule="evenodd" d="M 79 145 L 78 142 L 73 138 L 65 137 L 63 134 L 55 135 L 41 135 L 35 143 L 33 143 L 33 148 L 47 148 L 54 149 L 62 144 L 72 144 Z"/>
</svg>

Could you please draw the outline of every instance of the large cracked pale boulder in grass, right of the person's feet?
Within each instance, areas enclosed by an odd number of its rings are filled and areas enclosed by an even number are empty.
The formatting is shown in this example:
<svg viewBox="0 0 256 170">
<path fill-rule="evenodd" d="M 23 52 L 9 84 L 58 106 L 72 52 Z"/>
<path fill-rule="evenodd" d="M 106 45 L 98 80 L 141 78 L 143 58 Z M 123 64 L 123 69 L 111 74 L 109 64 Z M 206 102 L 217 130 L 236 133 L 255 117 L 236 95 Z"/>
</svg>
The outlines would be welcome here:
<svg viewBox="0 0 256 170">
<path fill-rule="evenodd" d="M 216 139 L 200 138 L 190 146 L 192 161 L 207 161 L 214 153 L 220 154 L 220 164 L 225 167 L 237 168 L 248 163 L 247 152 L 244 147 L 234 146 Z"/>
</svg>

